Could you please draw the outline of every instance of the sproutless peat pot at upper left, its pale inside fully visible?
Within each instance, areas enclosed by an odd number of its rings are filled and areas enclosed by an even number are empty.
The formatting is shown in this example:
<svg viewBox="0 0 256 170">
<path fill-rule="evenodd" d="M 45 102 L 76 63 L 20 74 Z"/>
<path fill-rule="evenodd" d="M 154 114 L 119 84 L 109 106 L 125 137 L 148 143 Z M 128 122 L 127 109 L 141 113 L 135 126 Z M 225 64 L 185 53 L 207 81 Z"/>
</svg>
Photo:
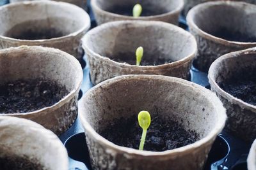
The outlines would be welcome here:
<svg viewBox="0 0 256 170">
<path fill-rule="evenodd" d="M 48 46 L 59 48 L 77 59 L 81 59 L 83 53 L 79 46 L 81 38 L 90 28 L 86 11 L 73 4 L 55 1 L 1 6 L 0 21 L 0 49 L 20 45 Z"/>
</svg>

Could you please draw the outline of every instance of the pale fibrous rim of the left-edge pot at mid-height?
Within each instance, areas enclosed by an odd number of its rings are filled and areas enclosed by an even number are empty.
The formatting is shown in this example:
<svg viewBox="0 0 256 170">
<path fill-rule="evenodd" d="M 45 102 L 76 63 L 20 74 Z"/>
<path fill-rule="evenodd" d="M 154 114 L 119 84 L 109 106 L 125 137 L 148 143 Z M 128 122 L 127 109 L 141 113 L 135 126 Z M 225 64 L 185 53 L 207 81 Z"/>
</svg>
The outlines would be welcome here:
<svg viewBox="0 0 256 170">
<path fill-rule="evenodd" d="M 0 54 L 4 53 L 4 52 L 12 52 L 12 50 L 35 50 L 36 52 L 40 51 L 40 52 L 51 52 L 53 53 L 61 53 L 61 56 L 64 57 L 65 59 L 69 60 L 69 62 L 71 62 L 74 67 L 77 69 L 76 70 L 76 74 L 79 78 L 79 83 L 77 83 L 75 89 L 71 90 L 65 97 L 63 97 L 60 101 L 58 101 L 57 103 L 51 105 L 51 106 L 47 106 L 45 108 L 42 108 L 40 110 L 35 110 L 35 111 L 29 111 L 29 112 L 25 112 L 25 113 L 0 113 L 0 117 L 1 116 L 25 116 L 25 115 L 34 115 L 36 113 L 40 113 L 42 111 L 47 111 L 47 110 L 51 110 L 53 108 L 60 108 L 61 106 L 63 106 L 65 103 L 67 103 L 67 101 L 70 101 L 75 95 L 76 92 L 79 91 L 81 84 L 82 84 L 82 80 L 83 80 L 83 70 L 81 68 L 80 63 L 78 62 L 78 60 L 73 57 L 72 55 L 63 52 L 59 49 L 56 48 L 49 48 L 49 47 L 42 47 L 42 46 L 19 46 L 19 47 L 11 47 L 11 48 L 4 48 L 3 50 L 0 50 Z"/>
</svg>

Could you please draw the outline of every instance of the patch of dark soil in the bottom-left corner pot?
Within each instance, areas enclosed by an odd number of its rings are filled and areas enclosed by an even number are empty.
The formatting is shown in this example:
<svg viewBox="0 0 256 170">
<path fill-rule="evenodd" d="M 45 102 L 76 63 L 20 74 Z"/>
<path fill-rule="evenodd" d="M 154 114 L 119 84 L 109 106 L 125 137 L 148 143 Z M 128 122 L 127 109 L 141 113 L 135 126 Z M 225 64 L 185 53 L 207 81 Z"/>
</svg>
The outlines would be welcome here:
<svg viewBox="0 0 256 170">
<path fill-rule="evenodd" d="M 26 157 L 0 157 L 1 170 L 43 170 L 38 161 Z"/>
</svg>

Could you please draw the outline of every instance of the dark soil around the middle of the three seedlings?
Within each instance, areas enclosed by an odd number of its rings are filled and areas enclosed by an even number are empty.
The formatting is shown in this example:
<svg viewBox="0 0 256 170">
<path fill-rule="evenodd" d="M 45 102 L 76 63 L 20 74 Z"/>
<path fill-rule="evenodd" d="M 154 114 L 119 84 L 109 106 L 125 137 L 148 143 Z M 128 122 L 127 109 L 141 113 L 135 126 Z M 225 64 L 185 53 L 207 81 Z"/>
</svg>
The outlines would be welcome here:
<svg viewBox="0 0 256 170">
<path fill-rule="evenodd" d="M 107 55 L 110 56 L 110 55 Z M 118 56 L 118 57 L 117 57 Z M 111 59 L 115 60 L 116 62 L 120 63 L 127 63 L 131 65 L 136 65 L 136 56 L 134 53 L 119 53 L 115 57 L 111 57 Z M 143 56 L 141 59 L 141 66 L 158 66 L 161 64 L 171 63 L 172 60 L 165 60 L 163 57 L 150 57 L 150 56 Z"/>
</svg>

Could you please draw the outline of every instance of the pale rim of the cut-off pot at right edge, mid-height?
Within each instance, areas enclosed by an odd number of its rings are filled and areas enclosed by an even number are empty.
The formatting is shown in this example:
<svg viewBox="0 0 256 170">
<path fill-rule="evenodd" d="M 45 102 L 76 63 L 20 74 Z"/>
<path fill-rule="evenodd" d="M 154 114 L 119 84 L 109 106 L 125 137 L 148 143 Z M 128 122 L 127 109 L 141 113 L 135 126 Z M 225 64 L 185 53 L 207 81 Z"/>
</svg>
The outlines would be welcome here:
<svg viewBox="0 0 256 170">
<path fill-rule="evenodd" d="M 215 73 L 214 69 L 216 69 L 224 60 L 234 58 L 234 57 L 239 57 L 241 55 L 246 55 L 249 53 L 256 54 L 256 47 L 222 55 L 221 57 L 219 57 L 212 63 L 212 65 L 209 69 L 208 78 L 209 78 L 209 83 L 211 84 L 211 87 L 214 87 L 214 90 L 216 90 L 216 92 L 218 92 L 218 94 L 225 97 L 225 99 L 228 99 L 228 101 L 230 101 L 231 103 L 238 104 L 239 106 L 242 106 L 242 108 L 246 108 L 246 109 L 251 110 L 254 113 L 256 113 L 256 106 L 254 106 L 253 104 L 246 103 L 246 102 L 242 101 L 241 99 L 238 99 L 237 97 L 234 97 L 231 94 L 228 94 L 227 92 L 225 92 L 225 90 L 221 89 L 220 86 L 218 85 L 218 83 L 214 80 L 214 73 Z M 241 59 L 243 59 L 243 58 L 241 57 Z"/>
</svg>

